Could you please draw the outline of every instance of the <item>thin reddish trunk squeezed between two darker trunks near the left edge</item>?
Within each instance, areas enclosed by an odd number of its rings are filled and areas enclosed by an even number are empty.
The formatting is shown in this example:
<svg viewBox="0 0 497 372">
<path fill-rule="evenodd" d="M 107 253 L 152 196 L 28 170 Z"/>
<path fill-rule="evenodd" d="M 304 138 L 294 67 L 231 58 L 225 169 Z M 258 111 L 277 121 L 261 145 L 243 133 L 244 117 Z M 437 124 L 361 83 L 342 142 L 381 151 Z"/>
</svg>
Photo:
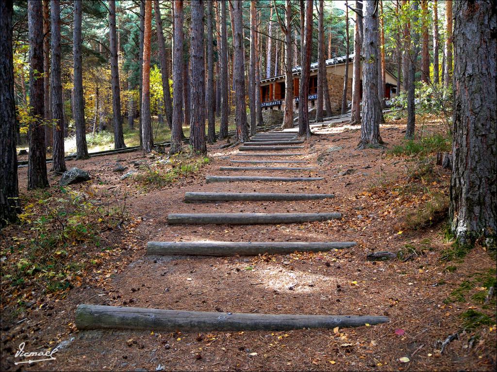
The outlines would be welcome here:
<svg viewBox="0 0 497 372">
<path fill-rule="evenodd" d="M 50 13 L 49 0 L 43 0 L 43 89 L 44 93 L 44 118 L 45 118 L 45 146 L 53 145 L 52 110 L 50 107 Z M 24 84 L 23 84 L 24 86 Z"/>
</svg>

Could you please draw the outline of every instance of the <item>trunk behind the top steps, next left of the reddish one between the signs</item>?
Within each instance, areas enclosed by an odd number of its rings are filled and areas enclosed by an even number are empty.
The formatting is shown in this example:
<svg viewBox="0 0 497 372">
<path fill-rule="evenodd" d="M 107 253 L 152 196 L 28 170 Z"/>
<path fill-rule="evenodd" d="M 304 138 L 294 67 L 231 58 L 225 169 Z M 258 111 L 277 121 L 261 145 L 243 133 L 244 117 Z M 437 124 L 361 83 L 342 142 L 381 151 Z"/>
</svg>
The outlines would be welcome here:
<svg viewBox="0 0 497 372">
<path fill-rule="evenodd" d="M 283 128 L 293 128 L 293 74 L 292 74 L 292 2 L 286 0 L 285 8 L 285 114 Z"/>
</svg>

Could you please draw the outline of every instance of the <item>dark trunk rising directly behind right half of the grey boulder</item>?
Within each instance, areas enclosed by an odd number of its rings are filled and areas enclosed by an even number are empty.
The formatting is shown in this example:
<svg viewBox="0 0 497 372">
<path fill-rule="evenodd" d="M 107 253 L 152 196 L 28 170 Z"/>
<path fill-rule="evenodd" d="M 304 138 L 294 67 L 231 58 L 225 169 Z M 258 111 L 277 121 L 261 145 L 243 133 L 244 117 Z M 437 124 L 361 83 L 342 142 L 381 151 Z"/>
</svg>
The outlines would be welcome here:
<svg viewBox="0 0 497 372">
<path fill-rule="evenodd" d="M 83 66 L 81 55 L 82 2 L 74 1 L 74 121 L 76 125 L 76 159 L 88 159 L 86 124 L 84 123 Z"/>
</svg>

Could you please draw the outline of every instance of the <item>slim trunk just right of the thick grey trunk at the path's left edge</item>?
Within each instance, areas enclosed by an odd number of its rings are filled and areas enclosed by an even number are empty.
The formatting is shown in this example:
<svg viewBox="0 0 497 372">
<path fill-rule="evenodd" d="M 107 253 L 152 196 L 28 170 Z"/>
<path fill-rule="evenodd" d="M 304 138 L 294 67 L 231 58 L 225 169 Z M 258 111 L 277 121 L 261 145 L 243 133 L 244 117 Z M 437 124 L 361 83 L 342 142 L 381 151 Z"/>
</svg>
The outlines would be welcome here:
<svg viewBox="0 0 497 372">
<path fill-rule="evenodd" d="M 216 142 L 216 122 L 214 120 L 214 38 L 213 31 L 213 1 L 207 0 L 207 140 L 209 143 Z"/>
</svg>

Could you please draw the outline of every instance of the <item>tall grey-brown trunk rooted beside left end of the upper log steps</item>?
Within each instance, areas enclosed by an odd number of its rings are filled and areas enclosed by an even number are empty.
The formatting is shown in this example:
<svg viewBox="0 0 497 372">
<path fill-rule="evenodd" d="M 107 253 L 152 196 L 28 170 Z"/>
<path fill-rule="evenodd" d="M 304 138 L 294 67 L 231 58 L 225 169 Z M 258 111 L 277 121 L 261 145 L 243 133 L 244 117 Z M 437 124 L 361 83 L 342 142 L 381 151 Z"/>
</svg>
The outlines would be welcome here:
<svg viewBox="0 0 497 372">
<path fill-rule="evenodd" d="M 243 15 L 242 2 L 232 1 L 230 10 L 233 14 L 233 45 L 235 48 L 235 64 L 233 73 L 235 76 L 235 95 L 236 95 L 236 124 L 237 139 L 240 142 L 248 141 L 247 130 L 247 109 L 245 106 L 245 67 L 244 67 L 244 40 L 243 40 Z"/>
</svg>

